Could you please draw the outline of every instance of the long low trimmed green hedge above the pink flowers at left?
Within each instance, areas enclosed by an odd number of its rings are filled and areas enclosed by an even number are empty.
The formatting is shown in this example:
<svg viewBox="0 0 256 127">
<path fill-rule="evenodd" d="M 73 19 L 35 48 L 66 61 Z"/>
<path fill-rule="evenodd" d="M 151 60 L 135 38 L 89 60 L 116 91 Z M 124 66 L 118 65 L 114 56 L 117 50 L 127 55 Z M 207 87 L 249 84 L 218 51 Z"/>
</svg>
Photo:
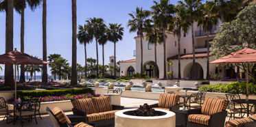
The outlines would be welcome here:
<svg viewBox="0 0 256 127">
<path fill-rule="evenodd" d="M 91 88 L 84 89 L 54 89 L 54 90 L 42 90 L 42 91 L 17 91 L 17 96 L 23 98 L 23 96 L 63 96 L 63 95 L 78 95 L 78 94 L 93 94 Z"/>
</svg>

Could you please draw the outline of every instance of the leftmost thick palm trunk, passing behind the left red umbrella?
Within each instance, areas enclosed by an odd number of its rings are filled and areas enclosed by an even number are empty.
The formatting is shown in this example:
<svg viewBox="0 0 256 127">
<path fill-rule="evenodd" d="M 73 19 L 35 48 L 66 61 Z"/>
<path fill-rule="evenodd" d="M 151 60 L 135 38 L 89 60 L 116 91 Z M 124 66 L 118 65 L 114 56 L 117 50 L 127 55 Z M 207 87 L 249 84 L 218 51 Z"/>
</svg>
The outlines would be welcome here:
<svg viewBox="0 0 256 127">
<path fill-rule="evenodd" d="M 8 13 L 6 22 L 7 38 L 5 39 L 5 53 L 13 51 L 13 3 L 14 0 L 8 0 Z M 13 65 L 5 65 L 5 86 L 14 86 Z"/>
</svg>

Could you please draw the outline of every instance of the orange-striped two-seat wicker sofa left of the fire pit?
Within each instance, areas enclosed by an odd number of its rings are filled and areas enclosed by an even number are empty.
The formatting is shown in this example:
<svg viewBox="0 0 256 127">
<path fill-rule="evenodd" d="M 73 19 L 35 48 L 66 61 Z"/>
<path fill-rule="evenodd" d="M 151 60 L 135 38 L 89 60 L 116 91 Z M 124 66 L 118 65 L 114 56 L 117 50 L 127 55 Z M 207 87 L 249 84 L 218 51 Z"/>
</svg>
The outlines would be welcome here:
<svg viewBox="0 0 256 127">
<path fill-rule="evenodd" d="M 115 112 L 124 109 L 111 104 L 108 96 L 71 100 L 73 115 L 67 115 L 71 122 L 94 122 L 95 126 L 115 123 Z"/>
</svg>

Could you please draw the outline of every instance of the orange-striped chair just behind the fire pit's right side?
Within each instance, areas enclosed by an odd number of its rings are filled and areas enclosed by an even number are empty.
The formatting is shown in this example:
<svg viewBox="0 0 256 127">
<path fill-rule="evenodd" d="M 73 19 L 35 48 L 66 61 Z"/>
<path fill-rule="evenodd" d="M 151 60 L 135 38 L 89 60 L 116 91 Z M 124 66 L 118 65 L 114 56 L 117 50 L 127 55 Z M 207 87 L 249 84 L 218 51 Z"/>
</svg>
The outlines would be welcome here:
<svg viewBox="0 0 256 127">
<path fill-rule="evenodd" d="M 179 96 L 177 94 L 160 94 L 159 103 L 150 105 L 150 108 L 178 111 L 180 109 L 178 100 Z"/>
</svg>

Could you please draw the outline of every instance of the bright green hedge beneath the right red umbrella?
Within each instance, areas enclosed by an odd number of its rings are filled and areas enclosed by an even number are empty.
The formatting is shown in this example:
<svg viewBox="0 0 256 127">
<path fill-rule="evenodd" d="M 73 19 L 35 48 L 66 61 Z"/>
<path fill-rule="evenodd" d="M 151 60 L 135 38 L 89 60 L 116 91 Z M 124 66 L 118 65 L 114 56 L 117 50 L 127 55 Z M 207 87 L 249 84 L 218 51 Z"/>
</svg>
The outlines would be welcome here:
<svg viewBox="0 0 256 127">
<path fill-rule="evenodd" d="M 249 94 L 256 94 L 256 85 L 253 83 L 248 84 Z M 207 85 L 200 87 L 199 90 L 218 92 L 218 93 L 232 93 L 232 94 L 246 94 L 246 81 L 237 81 L 222 85 L 218 83 L 216 85 Z"/>
</svg>

